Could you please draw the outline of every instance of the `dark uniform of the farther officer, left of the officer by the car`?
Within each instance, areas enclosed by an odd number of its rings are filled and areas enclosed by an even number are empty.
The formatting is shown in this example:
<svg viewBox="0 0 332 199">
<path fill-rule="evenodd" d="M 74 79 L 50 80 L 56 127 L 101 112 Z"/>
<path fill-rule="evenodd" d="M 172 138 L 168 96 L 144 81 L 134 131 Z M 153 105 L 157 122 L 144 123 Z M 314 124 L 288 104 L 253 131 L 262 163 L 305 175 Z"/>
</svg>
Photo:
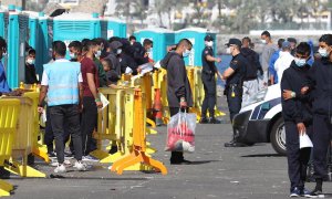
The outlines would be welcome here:
<svg viewBox="0 0 332 199">
<path fill-rule="evenodd" d="M 216 106 L 216 65 L 209 62 L 207 56 L 214 56 L 212 48 L 206 46 L 201 53 L 201 81 L 204 85 L 205 97 L 201 105 L 201 118 L 206 118 L 207 108 L 209 108 L 210 117 L 215 117 Z"/>
</svg>

